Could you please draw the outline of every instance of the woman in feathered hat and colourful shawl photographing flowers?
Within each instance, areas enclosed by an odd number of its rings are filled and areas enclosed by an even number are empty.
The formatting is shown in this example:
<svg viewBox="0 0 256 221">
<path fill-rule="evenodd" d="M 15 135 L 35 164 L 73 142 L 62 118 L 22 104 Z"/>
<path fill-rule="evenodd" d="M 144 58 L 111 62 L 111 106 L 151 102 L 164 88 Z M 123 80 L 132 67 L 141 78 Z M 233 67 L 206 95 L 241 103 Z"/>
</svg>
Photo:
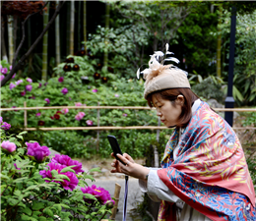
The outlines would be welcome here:
<svg viewBox="0 0 256 221">
<path fill-rule="evenodd" d="M 144 74 L 144 97 L 160 121 L 175 127 L 161 168 L 136 164 L 124 153 L 118 157 L 126 165 L 114 160 L 111 172 L 138 178 L 141 190 L 160 201 L 160 221 L 256 220 L 254 187 L 238 138 L 190 89 L 184 71 L 163 65 L 176 59 L 163 55 L 156 52 L 149 69 L 137 72 Z"/>
</svg>

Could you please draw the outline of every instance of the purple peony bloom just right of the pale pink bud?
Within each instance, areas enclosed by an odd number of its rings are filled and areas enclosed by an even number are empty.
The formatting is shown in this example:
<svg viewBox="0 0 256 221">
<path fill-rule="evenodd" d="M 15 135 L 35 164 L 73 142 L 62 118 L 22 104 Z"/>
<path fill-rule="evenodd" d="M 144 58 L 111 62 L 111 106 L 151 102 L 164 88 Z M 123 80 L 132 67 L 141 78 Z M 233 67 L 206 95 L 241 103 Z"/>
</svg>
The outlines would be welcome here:
<svg viewBox="0 0 256 221">
<path fill-rule="evenodd" d="M 50 155 L 49 148 L 45 145 L 40 146 L 38 142 L 26 142 L 26 145 L 28 146 L 27 155 L 34 157 L 38 162 Z"/>
</svg>

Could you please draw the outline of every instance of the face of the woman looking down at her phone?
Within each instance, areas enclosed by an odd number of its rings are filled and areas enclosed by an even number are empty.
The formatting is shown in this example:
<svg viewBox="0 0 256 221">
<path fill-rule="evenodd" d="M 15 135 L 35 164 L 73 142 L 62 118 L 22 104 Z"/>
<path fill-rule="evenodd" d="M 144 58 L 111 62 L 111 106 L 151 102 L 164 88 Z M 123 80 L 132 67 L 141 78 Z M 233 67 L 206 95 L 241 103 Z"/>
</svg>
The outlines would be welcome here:
<svg viewBox="0 0 256 221">
<path fill-rule="evenodd" d="M 160 121 L 167 128 L 176 126 L 182 112 L 184 97 L 178 95 L 177 99 L 171 102 L 170 100 L 162 99 L 158 94 L 153 94 L 152 101 L 157 108 L 157 115 L 160 117 Z"/>
</svg>

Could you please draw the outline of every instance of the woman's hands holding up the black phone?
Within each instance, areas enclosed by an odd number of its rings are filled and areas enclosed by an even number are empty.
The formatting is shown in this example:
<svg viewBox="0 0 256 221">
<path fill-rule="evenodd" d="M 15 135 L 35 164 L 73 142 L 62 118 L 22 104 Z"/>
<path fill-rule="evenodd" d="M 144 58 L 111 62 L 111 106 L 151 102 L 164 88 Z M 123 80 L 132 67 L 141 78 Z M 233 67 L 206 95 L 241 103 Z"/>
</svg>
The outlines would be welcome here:
<svg viewBox="0 0 256 221">
<path fill-rule="evenodd" d="M 111 153 L 111 155 L 114 157 L 113 153 Z M 124 173 L 128 176 L 132 176 L 137 179 L 141 179 L 145 181 L 147 180 L 146 175 L 150 173 L 150 170 L 148 168 L 135 163 L 133 158 L 127 153 L 124 153 L 123 156 L 120 154 L 117 154 L 117 156 L 126 165 L 123 165 L 121 162 L 114 159 L 113 163 L 111 163 L 111 166 L 113 167 L 113 169 L 111 170 L 111 173 Z"/>
</svg>

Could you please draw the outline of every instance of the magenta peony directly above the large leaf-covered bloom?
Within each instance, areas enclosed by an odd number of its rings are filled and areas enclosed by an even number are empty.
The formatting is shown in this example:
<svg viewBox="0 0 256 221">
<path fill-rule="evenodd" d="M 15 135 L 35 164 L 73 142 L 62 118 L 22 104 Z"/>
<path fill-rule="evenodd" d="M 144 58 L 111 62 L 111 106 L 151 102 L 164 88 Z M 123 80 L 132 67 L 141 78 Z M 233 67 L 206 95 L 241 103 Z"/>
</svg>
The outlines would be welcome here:
<svg viewBox="0 0 256 221">
<path fill-rule="evenodd" d="M 65 166 L 74 166 L 72 167 L 73 170 L 75 170 L 76 174 L 80 173 L 80 172 L 85 172 L 82 169 L 82 163 L 80 163 L 77 160 L 72 160 L 68 155 L 60 155 L 60 154 L 55 154 L 55 156 L 51 159 L 51 162 L 53 163 L 59 163 L 61 165 L 65 165 Z"/>
</svg>

